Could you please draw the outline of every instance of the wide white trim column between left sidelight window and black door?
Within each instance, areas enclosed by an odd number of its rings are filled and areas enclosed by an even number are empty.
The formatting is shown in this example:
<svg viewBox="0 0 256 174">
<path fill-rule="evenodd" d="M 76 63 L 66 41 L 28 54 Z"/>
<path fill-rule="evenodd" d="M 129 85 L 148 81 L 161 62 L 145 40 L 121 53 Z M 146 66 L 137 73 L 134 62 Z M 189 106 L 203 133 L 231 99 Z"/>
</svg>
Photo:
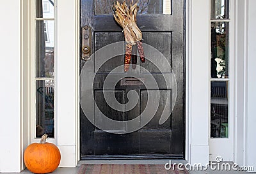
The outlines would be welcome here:
<svg viewBox="0 0 256 174">
<path fill-rule="evenodd" d="M 58 1 L 56 48 L 56 121 L 60 167 L 77 164 L 77 25 L 78 1 Z M 77 11 L 78 10 L 78 11 Z M 78 54 L 79 55 L 79 54 Z"/>
</svg>

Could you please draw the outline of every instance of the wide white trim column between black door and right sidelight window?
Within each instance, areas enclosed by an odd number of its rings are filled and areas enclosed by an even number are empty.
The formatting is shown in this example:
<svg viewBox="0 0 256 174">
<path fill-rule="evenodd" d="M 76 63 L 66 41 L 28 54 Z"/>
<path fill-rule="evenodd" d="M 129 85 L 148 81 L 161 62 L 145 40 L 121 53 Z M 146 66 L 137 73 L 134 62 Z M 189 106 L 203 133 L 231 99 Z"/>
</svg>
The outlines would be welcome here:
<svg viewBox="0 0 256 174">
<path fill-rule="evenodd" d="M 189 1 L 188 131 L 191 164 L 209 162 L 210 22 L 209 1 Z M 202 47 L 205 47 L 202 49 Z M 198 68 L 200 67 L 200 68 Z M 200 155 L 199 155 L 200 154 Z"/>
</svg>

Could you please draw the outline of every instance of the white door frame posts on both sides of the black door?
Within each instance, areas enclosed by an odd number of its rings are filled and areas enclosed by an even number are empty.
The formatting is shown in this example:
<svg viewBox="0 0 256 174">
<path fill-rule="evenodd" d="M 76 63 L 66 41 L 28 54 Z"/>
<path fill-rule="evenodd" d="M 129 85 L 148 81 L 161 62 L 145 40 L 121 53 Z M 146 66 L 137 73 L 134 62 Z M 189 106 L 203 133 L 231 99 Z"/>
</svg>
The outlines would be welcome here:
<svg viewBox="0 0 256 174">
<path fill-rule="evenodd" d="M 74 167 L 80 160 L 79 6 L 79 0 L 58 1 L 56 8 L 56 56 L 68 57 L 68 59 L 56 60 L 56 144 L 62 156 L 69 156 L 68 159 L 61 159 L 60 167 Z M 209 161 L 209 138 L 208 134 L 205 134 L 209 129 L 209 117 L 205 117 L 210 113 L 209 76 L 207 73 L 202 75 L 201 71 L 209 72 L 210 66 L 200 68 L 198 71 L 198 64 L 209 65 L 208 59 L 202 60 L 202 57 L 209 57 L 209 47 L 202 50 L 198 45 L 199 42 L 201 45 L 209 46 L 209 24 L 209 1 L 187 0 L 184 34 L 186 36 L 185 159 L 192 164 L 206 164 Z M 199 37 L 202 34 L 206 37 Z M 198 127 L 198 122 L 202 123 L 202 126 Z"/>
</svg>

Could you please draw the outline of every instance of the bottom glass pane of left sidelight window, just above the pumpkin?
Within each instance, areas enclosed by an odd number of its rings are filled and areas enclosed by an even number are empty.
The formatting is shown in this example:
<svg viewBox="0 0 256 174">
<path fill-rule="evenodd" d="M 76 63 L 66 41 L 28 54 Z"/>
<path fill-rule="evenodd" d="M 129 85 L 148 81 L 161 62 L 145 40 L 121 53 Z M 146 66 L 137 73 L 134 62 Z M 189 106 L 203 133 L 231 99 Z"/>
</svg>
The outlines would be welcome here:
<svg viewBox="0 0 256 174">
<path fill-rule="evenodd" d="M 36 81 L 36 137 L 54 137 L 54 80 Z"/>
</svg>

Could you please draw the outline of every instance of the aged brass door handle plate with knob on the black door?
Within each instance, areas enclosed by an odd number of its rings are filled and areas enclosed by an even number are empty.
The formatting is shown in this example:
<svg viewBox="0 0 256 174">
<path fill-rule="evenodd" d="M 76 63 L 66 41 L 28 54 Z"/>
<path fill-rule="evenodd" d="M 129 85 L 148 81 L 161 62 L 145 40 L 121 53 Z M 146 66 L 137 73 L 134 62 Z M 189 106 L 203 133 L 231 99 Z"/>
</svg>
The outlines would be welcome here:
<svg viewBox="0 0 256 174">
<path fill-rule="evenodd" d="M 91 44 L 92 44 L 92 28 L 88 25 L 85 25 L 82 28 L 81 32 L 81 40 L 82 40 L 82 47 L 81 47 L 81 59 L 83 61 L 88 61 L 90 59 L 90 55 L 92 52 Z"/>
</svg>

